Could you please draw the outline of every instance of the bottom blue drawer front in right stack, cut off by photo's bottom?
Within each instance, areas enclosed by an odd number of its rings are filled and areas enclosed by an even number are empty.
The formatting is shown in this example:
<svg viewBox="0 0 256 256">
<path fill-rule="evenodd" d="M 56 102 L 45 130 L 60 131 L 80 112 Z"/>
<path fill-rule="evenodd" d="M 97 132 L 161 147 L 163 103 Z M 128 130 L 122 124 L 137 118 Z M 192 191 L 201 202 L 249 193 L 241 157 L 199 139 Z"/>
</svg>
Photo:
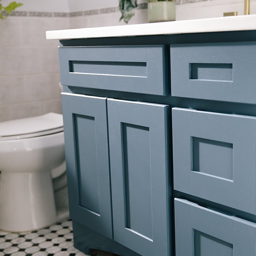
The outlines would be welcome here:
<svg viewBox="0 0 256 256">
<path fill-rule="evenodd" d="M 176 256 L 254 256 L 256 224 L 174 200 Z"/>
</svg>

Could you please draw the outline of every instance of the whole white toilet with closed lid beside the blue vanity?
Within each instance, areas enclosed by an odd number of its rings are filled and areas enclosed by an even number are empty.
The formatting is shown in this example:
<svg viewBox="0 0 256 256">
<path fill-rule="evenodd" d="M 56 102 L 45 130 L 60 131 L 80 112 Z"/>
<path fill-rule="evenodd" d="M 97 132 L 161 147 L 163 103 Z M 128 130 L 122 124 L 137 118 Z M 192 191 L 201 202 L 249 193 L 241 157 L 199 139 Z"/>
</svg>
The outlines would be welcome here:
<svg viewBox="0 0 256 256">
<path fill-rule="evenodd" d="M 62 115 L 0 122 L 0 229 L 22 232 L 69 216 Z"/>
</svg>

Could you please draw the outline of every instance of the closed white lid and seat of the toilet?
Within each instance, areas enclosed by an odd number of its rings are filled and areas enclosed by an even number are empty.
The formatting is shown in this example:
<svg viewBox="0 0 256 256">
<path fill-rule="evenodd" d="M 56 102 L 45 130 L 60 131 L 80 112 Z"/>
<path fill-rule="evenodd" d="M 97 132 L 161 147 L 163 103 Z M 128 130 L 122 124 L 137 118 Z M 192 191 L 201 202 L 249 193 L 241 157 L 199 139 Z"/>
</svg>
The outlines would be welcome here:
<svg viewBox="0 0 256 256">
<path fill-rule="evenodd" d="M 42 116 L 0 122 L 0 140 L 31 138 L 62 131 L 62 114 L 52 112 Z"/>
</svg>

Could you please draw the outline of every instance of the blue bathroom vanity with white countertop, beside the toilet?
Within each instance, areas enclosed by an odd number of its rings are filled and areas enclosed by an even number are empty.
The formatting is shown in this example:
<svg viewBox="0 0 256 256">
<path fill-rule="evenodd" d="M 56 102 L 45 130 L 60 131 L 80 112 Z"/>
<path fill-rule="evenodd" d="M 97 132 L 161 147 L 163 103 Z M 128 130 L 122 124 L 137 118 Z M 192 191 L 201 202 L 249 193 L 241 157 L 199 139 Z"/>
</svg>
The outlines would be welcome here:
<svg viewBox="0 0 256 256">
<path fill-rule="evenodd" d="M 256 16 L 47 38 L 76 248 L 255 256 Z"/>
</svg>

